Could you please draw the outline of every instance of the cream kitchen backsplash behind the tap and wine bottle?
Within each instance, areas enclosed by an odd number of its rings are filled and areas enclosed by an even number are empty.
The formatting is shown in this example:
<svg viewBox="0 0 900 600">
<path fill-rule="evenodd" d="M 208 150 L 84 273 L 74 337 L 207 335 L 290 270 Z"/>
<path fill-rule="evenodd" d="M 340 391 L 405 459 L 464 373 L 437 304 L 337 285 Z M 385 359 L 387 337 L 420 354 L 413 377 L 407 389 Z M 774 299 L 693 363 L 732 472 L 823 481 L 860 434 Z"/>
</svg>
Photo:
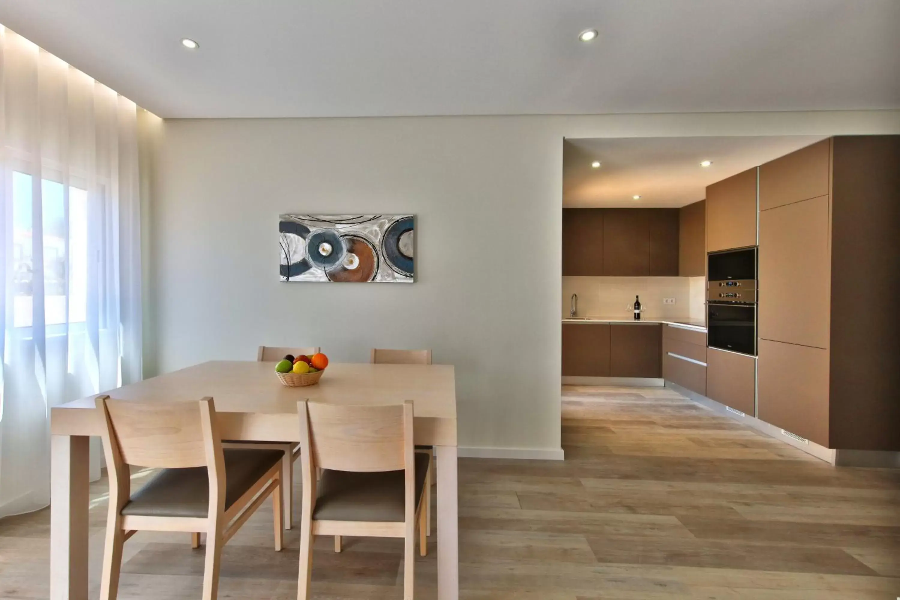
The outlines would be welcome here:
<svg viewBox="0 0 900 600">
<path fill-rule="evenodd" d="M 704 277 L 563 277 L 563 318 L 573 293 L 579 317 L 632 316 L 629 307 L 638 295 L 647 317 L 704 318 L 705 282 Z M 665 298 L 675 303 L 663 304 Z"/>
</svg>

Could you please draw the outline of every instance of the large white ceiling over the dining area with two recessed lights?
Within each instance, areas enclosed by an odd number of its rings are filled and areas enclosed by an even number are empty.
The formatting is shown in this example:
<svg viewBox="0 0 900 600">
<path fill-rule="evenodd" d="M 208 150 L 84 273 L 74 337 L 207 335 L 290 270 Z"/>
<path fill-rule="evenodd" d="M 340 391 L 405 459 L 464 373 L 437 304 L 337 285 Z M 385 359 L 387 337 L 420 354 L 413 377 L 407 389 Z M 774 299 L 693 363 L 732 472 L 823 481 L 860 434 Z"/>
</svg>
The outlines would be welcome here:
<svg viewBox="0 0 900 600">
<path fill-rule="evenodd" d="M 162 117 L 900 108 L 900 0 L 0 0 L 0 22 Z"/>
</svg>

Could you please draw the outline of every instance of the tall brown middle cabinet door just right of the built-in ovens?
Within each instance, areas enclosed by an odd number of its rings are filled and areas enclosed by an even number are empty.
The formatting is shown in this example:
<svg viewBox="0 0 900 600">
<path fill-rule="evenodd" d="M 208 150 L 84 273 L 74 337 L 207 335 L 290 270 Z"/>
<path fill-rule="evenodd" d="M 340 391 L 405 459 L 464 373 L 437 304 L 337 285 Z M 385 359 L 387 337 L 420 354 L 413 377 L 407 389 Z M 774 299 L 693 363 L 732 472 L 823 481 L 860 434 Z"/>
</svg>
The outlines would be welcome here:
<svg viewBox="0 0 900 600">
<path fill-rule="evenodd" d="M 761 339 L 827 348 L 828 196 L 760 212 Z"/>
</svg>

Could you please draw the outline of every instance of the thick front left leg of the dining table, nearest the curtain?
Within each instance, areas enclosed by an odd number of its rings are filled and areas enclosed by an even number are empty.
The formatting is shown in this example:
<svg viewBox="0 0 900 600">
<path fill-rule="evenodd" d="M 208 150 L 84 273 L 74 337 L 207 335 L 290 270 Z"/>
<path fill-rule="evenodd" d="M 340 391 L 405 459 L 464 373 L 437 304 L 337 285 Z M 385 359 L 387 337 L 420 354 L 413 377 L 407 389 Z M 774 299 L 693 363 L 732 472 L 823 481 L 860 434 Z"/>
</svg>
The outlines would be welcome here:
<svg viewBox="0 0 900 600">
<path fill-rule="evenodd" d="M 50 600 L 87 600 L 90 439 L 50 436 Z"/>
</svg>

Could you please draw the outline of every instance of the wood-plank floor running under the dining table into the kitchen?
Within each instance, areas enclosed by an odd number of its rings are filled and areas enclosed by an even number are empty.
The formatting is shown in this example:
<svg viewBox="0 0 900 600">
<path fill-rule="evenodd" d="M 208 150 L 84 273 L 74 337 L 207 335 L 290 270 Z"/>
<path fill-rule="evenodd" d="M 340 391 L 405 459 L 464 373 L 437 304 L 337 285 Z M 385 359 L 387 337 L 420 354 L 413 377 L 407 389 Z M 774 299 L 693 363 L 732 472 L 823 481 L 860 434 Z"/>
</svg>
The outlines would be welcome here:
<svg viewBox="0 0 900 600">
<path fill-rule="evenodd" d="M 564 388 L 563 447 L 565 461 L 460 460 L 461 597 L 900 596 L 900 471 L 835 469 L 660 388 Z M 103 494 L 100 481 L 94 582 Z M 297 532 L 273 551 L 268 506 L 226 546 L 220 598 L 296 597 Z M 0 521 L 0 597 L 48 596 L 48 539 L 48 511 Z M 313 597 L 402 597 L 400 540 L 345 545 L 317 542 Z M 417 598 L 436 597 L 429 545 Z M 200 597 L 186 534 L 139 533 L 125 560 L 121 598 Z"/>
</svg>

